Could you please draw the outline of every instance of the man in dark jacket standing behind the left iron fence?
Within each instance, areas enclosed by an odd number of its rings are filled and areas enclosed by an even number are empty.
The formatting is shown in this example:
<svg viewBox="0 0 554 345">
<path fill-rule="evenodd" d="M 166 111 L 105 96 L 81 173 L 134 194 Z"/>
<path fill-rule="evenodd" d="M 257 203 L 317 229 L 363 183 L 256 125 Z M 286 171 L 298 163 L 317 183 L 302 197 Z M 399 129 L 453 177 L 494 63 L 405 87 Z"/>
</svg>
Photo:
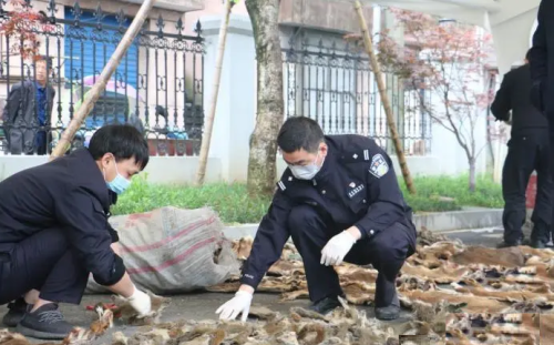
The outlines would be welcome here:
<svg viewBox="0 0 554 345">
<path fill-rule="evenodd" d="M 48 83 L 49 58 L 35 62 L 35 80 L 14 84 L 3 110 L 3 129 L 11 154 L 47 154 L 55 90 Z"/>
</svg>

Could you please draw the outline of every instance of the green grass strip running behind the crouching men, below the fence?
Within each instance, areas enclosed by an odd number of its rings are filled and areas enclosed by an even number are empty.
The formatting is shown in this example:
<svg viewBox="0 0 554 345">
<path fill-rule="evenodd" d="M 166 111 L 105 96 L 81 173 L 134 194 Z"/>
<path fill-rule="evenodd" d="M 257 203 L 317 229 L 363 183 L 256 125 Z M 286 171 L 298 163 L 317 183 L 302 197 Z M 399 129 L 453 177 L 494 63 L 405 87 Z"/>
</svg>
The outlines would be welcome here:
<svg viewBox="0 0 554 345">
<path fill-rule="evenodd" d="M 400 181 L 408 204 L 416 212 L 456 211 L 464 206 L 502 207 L 502 187 L 491 179 L 480 177 L 475 193 L 468 191 L 466 176 L 416 177 L 417 195 L 409 195 Z M 450 197 L 452 200 L 444 200 Z M 226 224 L 257 223 L 267 212 L 270 197 L 250 197 L 240 183 L 213 183 L 203 187 L 158 185 L 146 177 L 133 179 L 131 187 L 119 199 L 113 214 L 131 214 L 163 206 L 198 209 L 209 206 Z"/>
</svg>

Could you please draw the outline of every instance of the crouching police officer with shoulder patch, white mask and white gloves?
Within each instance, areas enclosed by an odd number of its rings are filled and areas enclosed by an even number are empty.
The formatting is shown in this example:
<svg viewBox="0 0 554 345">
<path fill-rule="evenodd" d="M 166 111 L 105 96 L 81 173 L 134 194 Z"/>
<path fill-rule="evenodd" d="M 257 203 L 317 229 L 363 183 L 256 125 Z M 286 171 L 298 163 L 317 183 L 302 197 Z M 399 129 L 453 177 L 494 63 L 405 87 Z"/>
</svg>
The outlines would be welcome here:
<svg viewBox="0 0 554 345">
<path fill-rule="evenodd" d="M 254 291 L 289 236 L 304 261 L 311 310 L 327 314 L 340 305 L 332 266 L 345 261 L 379 271 L 376 316 L 397 318 L 396 277 L 414 252 L 417 232 L 390 158 L 369 138 L 324 136 L 308 118 L 287 120 L 277 144 L 288 169 L 258 227 L 243 284 L 216 311 L 219 318 L 242 314 L 246 321 Z"/>
</svg>

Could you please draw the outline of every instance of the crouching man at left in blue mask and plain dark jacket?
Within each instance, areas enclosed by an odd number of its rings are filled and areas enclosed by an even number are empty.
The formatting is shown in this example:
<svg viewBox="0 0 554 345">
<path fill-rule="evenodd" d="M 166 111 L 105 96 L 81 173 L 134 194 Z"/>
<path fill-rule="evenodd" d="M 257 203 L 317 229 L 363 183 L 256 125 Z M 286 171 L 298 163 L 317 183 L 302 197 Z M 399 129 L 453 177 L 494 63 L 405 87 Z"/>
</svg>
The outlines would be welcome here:
<svg viewBox="0 0 554 345">
<path fill-rule="evenodd" d="M 89 275 L 129 298 L 140 315 L 148 295 L 135 288 L 107 223 L 113 197 L 148 162 L 144 138 L 130 125 L 96 131 L 89 149 L 0 182 L 0 305 L 23 335 L 63 338 L 72 325 L 58 303 L 80 304 Z"/>
</svg>

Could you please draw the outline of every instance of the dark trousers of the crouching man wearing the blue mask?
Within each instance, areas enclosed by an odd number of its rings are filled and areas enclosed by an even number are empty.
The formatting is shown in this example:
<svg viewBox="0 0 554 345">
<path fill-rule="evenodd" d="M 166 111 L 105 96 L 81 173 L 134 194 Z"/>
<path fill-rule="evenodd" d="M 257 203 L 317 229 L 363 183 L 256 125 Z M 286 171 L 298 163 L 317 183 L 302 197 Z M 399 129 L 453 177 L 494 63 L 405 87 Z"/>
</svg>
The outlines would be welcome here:
<svg viewBox="0 0 554 345">
<path fill-rule="evenodd" d="M 57 229 L 43 230 L 16 244 L 0 265 L 0 305 L 31 290 L 40 298 L 80 304 L 89 272 L 70 248 L 65 235 Z"/>
</svg>

